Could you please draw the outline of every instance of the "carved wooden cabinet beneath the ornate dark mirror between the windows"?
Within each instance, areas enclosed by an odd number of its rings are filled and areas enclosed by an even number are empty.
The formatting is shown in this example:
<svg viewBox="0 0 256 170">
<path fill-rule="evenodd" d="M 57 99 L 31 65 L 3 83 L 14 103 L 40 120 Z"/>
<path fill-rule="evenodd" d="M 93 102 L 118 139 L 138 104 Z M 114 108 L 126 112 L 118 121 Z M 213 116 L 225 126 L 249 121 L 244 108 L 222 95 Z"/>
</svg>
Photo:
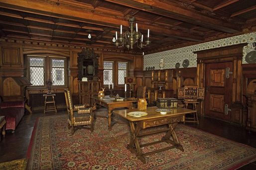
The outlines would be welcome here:
<svg viewBox="0 0 256 170">
<path fill-rule="evenodd" d="M 92 106 L 91 97 L 98 95 L 100 89 L 100 81 L 79 81 L 78 83 L 78 97 L 79 103 Z"/>
</svg>

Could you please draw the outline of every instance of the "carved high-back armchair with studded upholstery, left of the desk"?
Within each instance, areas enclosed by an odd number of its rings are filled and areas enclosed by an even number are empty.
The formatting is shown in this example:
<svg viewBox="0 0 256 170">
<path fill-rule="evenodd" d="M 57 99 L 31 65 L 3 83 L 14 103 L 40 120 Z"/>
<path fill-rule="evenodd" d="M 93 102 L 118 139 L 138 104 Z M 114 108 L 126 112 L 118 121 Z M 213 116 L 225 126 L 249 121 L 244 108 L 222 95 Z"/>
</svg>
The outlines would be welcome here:
<svg viewBox="0 0 256 170">
<path fill-rule="evenodd" d="M 85 105 L 73 106 L 72 96 L 69 90 L 65 90 L 65 99 L 68 111 L 68 129 L 74 134 L 75 127 L 89 128 L 91 132 L 94 130 L 94 113 L 91 108 Z M 90 127 L 86 127 L 89 125 Z"/>
</svg>

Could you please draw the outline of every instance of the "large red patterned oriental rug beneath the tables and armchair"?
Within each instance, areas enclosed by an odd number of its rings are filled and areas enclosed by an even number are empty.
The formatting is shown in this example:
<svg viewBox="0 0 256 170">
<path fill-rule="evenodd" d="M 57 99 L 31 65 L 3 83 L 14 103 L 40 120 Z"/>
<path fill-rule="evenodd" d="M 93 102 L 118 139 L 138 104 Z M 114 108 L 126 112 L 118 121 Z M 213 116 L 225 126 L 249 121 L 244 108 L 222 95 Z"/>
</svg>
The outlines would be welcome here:
<svg viewBox="0 0 256 170">
<path fill-rule="evenodd" d="M 97 117 L 95 130 L 67 128 L 67 115 L 39 117 L 28 149 L 29 170 L 235 170 L 256 160 L 256 149 L 178 124 L 176 134 L 184 152 L 171 149 L 146 157 L 143 164 L 126 146 L 127 124 L 115 124 Z M 158 127 L 163 128 L 163 127 Z M 161 139 L 164 133 L 144 137 L 140 143 Z M 150 152 L 169 144 L 142 148 Z"/>
</svg>

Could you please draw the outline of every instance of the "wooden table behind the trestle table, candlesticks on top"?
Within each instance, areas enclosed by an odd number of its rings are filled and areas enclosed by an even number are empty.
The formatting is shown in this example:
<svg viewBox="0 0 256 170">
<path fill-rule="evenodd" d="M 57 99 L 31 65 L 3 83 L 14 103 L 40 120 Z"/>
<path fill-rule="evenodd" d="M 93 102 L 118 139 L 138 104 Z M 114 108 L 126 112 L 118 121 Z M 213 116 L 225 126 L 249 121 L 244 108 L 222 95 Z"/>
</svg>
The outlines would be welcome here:
<svg viewBox="0 0 256 170">
<path fill-rule="evenodd" d="M 104 96 L 103 98 L 99 98 L 98 96 L 91 97 L 93 99 L 93 103 L 103 106 L 108 109 L 108 119 L 109 119 L 109 129 L 111 130 L 111 115 L 112 111 L 116 108 L 128 108 L 132 109 L 132 102 L 134 100 L 125 100 L 117 101 L 115 98 L 111 98 L 110 96 Z M 121 98 L 122 99 L 122 98 Z"/>
</svg>

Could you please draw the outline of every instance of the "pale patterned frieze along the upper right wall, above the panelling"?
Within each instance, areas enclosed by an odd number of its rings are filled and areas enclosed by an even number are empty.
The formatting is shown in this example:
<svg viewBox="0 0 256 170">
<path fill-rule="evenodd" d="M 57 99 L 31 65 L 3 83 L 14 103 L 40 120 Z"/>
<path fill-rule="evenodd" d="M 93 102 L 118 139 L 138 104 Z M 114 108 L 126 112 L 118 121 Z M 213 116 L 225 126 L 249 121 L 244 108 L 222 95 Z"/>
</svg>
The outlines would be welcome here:
<svg viewBox="0 0 256 170">
<path fill-rule="evenodd" d="M 175 68 L 177 62 L 180 63 L 180 68 L 182 68 L 182 62 L 184 59 L 189 60 L 188 67 L 197 66 L 197 55 L 193 52 L 200 50 L 208 50 L 219 47 L 231 46 L 236 44 L 248 43 L 243 50 L 243 63 L 247 63 L 245 60 L 246 55 L 249 52 L 255 51 L 253 43 L 256 42 L 256 32 L 243 34 L 239 36 L 229 37 L 221 40 L 211 41 L 207 43 L 197 44 L 193 46 L 183 47 L 174 50 L 168 50 L 164 52 L 149 54 L 144 56 L 144 70 L 148 70 L 150 67 L 155 69 L 160 69 L 159 63 L 160 59 L 164 60 L 164 69 Z"/>
</svg>

